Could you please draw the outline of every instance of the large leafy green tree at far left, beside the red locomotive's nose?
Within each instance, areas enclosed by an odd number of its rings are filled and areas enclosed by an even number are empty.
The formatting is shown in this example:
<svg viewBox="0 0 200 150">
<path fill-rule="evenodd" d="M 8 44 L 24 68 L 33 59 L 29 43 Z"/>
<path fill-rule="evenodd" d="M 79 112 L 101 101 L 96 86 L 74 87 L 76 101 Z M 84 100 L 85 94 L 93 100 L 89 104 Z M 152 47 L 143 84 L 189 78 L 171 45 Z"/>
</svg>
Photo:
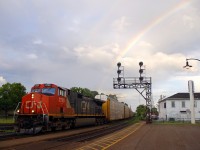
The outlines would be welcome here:
<svg viewBox="0 0 200 150">
<path fill-rule="evenodd" d="M 0 87 L 0 109 L 8 115 L 9 110 L 14 110 L 26 94 L 26 88 L 21 83 L 6 83 Z"/>
</svg>

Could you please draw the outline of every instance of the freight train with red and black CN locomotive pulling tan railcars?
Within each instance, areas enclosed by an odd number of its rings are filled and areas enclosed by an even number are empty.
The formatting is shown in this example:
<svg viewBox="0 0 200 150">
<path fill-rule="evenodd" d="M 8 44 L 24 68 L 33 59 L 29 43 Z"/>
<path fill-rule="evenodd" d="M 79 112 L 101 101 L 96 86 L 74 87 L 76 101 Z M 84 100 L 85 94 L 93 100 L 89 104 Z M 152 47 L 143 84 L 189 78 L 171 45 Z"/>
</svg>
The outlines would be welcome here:
<svg viewBox="0 0 200 150">
<path fill-rule="evenodd" d="M 74 128 L 81 125 L 104 124 L 133 116 L 125 103 L 107 98 L 92 99 L 55 84 L 36 84 L 22 97 L 15 112 L 18 132 Z"/>
</svg>

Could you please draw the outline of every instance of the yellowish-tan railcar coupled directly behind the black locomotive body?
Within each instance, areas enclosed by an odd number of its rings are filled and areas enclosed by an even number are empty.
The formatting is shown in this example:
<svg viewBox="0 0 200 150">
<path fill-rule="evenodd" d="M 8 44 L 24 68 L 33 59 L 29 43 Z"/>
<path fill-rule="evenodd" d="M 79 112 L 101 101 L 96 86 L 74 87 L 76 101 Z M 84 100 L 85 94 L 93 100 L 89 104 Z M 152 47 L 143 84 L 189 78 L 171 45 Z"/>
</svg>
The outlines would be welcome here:
<svg viewBox="0 0 200 150">
<path fill-rule="evenodd" d="M 124 119 L 124 104 L 118 100 L 109 98 L 102 105 L 107 121 Z"/>
</svg>

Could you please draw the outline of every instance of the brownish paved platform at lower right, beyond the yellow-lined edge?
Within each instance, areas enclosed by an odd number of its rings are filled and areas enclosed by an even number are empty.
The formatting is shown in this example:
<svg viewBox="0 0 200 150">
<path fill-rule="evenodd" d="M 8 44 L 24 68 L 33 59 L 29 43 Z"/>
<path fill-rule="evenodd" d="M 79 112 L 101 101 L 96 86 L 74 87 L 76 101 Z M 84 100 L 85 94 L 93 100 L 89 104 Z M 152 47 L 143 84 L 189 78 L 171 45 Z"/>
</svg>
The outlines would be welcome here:
<svg viewBox="0 0 200 150">
<path fill-rule="evenodd" d="M 108 149 L 200 150 L 200 126 L 145 124 Z"/>
</svg>

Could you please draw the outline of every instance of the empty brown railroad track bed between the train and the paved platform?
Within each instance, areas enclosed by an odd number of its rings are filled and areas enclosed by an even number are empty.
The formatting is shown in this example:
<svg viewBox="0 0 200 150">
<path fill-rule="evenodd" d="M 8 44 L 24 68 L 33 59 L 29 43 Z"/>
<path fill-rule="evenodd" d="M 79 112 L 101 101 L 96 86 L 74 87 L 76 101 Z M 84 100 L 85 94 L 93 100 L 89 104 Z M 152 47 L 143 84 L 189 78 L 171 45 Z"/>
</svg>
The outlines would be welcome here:
<svg viewBox="0 0 200 150">
<path fill-rule="evenodd" d="M 89 142 L 90 140 L 97 139 L 99 137 L 108 135 L 120 129 L 129 126 L 128 121 L 120 121 L 116 123 L 107 124 L 105 126 L 99 126 L 98 128 L 94 128 L 92 130 L 88 130 L 88 127 L 73 129 L 73 130 L 65 130 L 65 131 L 58 131 L 58 132 L 47 132 L 43 135 L 16 135 L 16 136 L 8 136 L 9 139 L 16 139 L 17 141 L 15 144 L 9 144 L 9 142 L 5 141 L 2 148 L 13 148 L 16 150 L 21 149 L 58 149 L 63 148 L 66 149 L 66 146 L 74 148 L 76 144 L 84 144 L 85 142 Z M 88 128 L 88 129 L 87 129 Z M 68 131 L 73 133 L 69 133 Z M 31 137 L 33 136 L 33 138 Z M 7 139 L 8 139 L 7 137 Z M 25 138 L 24 138 L 25 137 Z M 28 137 L 28 138 L 26 138 Z M 29 138 L 30 137 L 30 138 Z M 19 139 L 22 138 L 22 139 Z M 27 140 L 26 140 L 27 139 Z M 1 141 L 1 139 L 0 139 Z M 10 140 L 8 140 L 10 141 Z M 12 140 L 13 141 L 13 140 Z M 75 145 L 74 145 L 75 144 Z M 76 145 L 78 146 L 78 145 Z M 70 149 L 71 149 L 70 148 Z"/>
</svg>

